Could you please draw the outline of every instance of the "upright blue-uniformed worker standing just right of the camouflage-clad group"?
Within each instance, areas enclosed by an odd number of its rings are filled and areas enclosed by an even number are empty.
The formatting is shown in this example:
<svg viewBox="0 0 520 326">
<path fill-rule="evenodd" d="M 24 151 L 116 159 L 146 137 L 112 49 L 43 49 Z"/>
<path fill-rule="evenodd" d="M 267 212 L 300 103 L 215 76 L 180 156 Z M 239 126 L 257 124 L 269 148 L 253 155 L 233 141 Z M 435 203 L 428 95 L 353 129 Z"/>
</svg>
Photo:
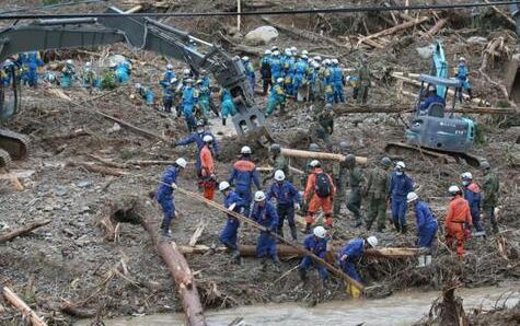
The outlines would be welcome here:
<svg viewBox="0 0 520 326">
<path fill-rule="evenodd" d="M 390 205 L 392 220 L 397 232 L 406 233 L 406 195 L 414 190 L 414 182 L 405 174 L 406 165 L 400 161 L 395 163 L 390 178 Z"/>
</svg>

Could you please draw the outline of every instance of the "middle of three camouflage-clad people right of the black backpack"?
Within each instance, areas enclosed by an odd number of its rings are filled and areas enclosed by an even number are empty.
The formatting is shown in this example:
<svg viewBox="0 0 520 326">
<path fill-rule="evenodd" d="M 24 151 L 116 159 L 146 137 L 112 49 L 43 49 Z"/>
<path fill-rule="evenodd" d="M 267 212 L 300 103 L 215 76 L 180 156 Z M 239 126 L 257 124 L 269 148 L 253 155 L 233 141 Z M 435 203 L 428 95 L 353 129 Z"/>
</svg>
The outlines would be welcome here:
<svg viewBox="0 0 520 326">
<path fill-rule="evenodd" d="M 362 225 L 361 188 L 365 184 L 365 177 L 361 168 L 356 165 L 356 156 L 354 154 L 348 154 L 345 158 L 345 163 L 348 168 L 347 184 L 350 187 L 350 193 L 348 194 L 347 199 L 347 209 L 353 212 L 354 219 L 356 220 L 354 228 L 359 228 Z"/>
</svg>

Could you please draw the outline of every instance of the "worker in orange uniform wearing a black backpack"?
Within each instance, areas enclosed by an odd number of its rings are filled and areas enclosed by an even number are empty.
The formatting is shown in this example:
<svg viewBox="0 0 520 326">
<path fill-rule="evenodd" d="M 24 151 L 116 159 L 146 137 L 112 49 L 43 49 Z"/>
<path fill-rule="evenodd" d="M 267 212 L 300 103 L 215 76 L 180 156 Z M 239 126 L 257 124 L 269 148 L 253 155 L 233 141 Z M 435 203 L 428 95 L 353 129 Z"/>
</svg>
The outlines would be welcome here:
<svg viewBox="0 0 520 326">
<path fill-rule="evenodd" d="M 332 203 L 336 193 L 332 177 L 323 172 L 321 163 L 314 160 L 309 165 L 312 172 L 307 179 L 305 193 L 303 194 L 303 199 L 309 203 L 305 217 L 305 233 L 310 233 L 311 225 L 314 223 L 314 213 L 319 208 L 325 213 L 325 228 L 332 228 Z"/>
</svg>

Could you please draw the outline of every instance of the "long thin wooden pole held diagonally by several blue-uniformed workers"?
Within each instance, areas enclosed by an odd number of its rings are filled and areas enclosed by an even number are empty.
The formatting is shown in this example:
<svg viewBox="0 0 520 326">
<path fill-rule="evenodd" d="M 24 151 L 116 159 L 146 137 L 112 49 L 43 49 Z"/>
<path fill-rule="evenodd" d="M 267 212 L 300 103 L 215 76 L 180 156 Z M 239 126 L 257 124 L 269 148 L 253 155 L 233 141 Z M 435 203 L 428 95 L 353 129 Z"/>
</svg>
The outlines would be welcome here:
<svg viewBox="0 0 520 326">
<path fill-rule="evenodd" d="M 215 201 L 211 201 L 211 200 L 208 200 L 206 198 L 204 198 L 203 196 L 198 195 L 198 194 L 195 194 L 195 193 L 192 193 L 192 191 L 188 191 L 188 190 L 185 190 L 183 188 L 176 188 L 176 191 L 189 197 L 189 198 L 193 198 L 193 199 L 197 199 L 204 203 L 206 203 L 207 206 L 209 207 L 212 207 L 212 208 L 216 208 L 224 213 L 227 213 L 228 216 L 232 216 L 233 218 L 240 220 L 241 222 L 244 222 L 246 224 L 250 224 L 252 225 L 253 228 L 259 230 L 259 231 L 268 231 L 267 228 L 263 226 L 262 224 L 258 224 L 256 223 L 255 221 L 251 220 L 251 219 L 247 219 L 246 217 L 238 213 L 238 212 L 234 212 L 234 211 L 230 211 L 228 210 L 227 208 L 224 208 L 222 205 L 220 203 L 217 203 Z M 228 218 L 228 217 L 226 217 Z M 297 252 L 299 252 L 301 255 L 305 255 L 305 256 L 309 256 L 312 260 L 316 261 L 316 263 L 320 263 L 322 264 L 323 266 L 325 266 L 326 269 L 328 269 L 332 273 L 334 273 L 335 276 L 342 278 L 343 280 L 349 282 L 350 284 L 353 284 L 354 287 L 358 288 L 359 291 L 363 291 L 365 290 L 365 287 L 356 281 L 355 279 L 350 278 L 349 276 L 347 276 L 346 273 L 344 273 L 340 269 L 336 268 L 335 266 L 331 265 L 330 263 L 325 261 L 324 259 L 317 257 L 316 255 L 314 255 L 313 253 L 311 253 L 310 251 L 307 251 L 302 247 L 299 247 L 292 243 L 290 243 L 289 241 L 285 240 L 284 237 L 279 236 L 278 234 L 276 233 L 270 233 L 270 235 L 273 237 L 275 237 L 276 240 L 280 241 L 280 242 L 284 242 L 286 243 L 288 246 L 294 248 Z"/>
</svg>

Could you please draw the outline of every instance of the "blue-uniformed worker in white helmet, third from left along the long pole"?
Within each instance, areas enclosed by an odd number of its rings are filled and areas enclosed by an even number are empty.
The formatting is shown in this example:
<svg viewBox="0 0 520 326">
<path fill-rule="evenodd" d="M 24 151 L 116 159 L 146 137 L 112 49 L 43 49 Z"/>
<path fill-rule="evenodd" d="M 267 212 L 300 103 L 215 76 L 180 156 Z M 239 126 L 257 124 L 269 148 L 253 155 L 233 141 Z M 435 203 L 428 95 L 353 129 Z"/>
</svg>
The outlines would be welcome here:
<svg viewBox="0 0 520 326">
<path fill-rule="evenodd" d="M 267 268 L 267 259 L 270 258 L 275 265 L 275 270 L 279 271 L 280 259 L 278 259 L 276 252 L 275 237 L 270 234 L 276 232 L 278 228 L 278 214 L 273 203 L 266 200 L 264 191 L 255 193 L 255 205 L 251 212 L 251 219 L 266 228 L 266 231 L 261 231 L 256 244 L 256 256 L 262 258 L 262 270 Z"/>
</svg>

